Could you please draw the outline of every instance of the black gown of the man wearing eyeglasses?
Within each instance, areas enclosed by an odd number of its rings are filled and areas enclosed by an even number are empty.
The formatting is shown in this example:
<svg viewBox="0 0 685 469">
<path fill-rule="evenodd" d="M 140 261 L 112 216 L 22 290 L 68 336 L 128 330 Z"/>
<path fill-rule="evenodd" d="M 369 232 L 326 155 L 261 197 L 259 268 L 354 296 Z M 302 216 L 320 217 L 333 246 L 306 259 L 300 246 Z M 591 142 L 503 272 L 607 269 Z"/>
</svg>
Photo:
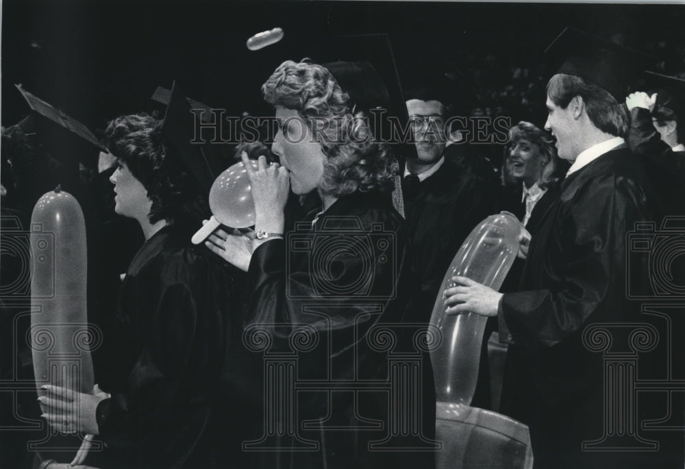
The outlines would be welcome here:
<svg viewBox="0 0 685 469">
<path fill-rule="evenodd" d="M 416 296 L 408 306 L 408 318 L 427 324 L 440 294 L 440 285 L 454 255 L 469 233 L 486 216 L 493 214 L 495 194 L 471 171 L 445 160 L 433 174 L 421 181 L 418 190 L 405 192 L 404 212 L 410 243 L 412 282 Z M 490 388 L 487 342 L 495 321 L 484 334 L 478 384 L 471 405 L 489 409 Z M 423 369 L 428 372 L 428 357 Z M 425 381 L 433 380 L 426 375 Z M 434 388 L 425 389 L 433 396 Z M 426 416 L 426 418 L 428 418 Z"/>
</svg>

